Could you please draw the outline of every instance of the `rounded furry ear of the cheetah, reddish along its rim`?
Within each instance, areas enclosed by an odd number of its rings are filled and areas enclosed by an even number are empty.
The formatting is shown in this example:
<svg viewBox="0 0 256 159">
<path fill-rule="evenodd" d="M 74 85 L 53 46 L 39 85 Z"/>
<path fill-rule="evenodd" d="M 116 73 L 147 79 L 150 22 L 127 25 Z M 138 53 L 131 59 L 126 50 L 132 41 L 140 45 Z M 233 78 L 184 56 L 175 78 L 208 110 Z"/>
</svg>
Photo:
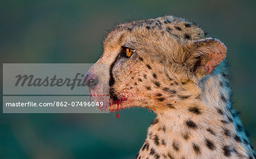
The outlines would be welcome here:
<svg viewBox="0 0 256 159">
<path fill-rule="evenodd" d="M 191 70 L 197 76 L 210 74 L 226 57 L 226 46 L 219 40 L 208 38 L 191 44 Z"/>
</svg>

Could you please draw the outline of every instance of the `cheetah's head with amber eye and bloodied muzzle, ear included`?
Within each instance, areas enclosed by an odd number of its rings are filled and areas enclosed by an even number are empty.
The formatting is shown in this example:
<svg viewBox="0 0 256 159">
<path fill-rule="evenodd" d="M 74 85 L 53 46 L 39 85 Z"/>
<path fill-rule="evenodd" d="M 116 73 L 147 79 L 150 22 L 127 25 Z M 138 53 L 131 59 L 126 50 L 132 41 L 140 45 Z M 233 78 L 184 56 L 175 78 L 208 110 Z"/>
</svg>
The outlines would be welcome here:
<svg viewBox="0 0 256 159">
<path fill-rule="evenodd" d="M 166 109 L 200 96 L 198 83 L 225 58 L 226 48 L 203 29 L 174 16 L 118 25 L 104 41 L 100 59 L 85 80 L 94 100 L 109 91 L 109 110 L 141 106 Z M 98 64 L 108 63 L 108 73 Z M 220 64 L 221 65 L 221 64 Z M 221 67 L 221 66 L 220 66 Z M 221 68 L 220 68 L 221 69 Z M 217 69 L 215 69 L 217 70 Z M 109 84 L 109 89 L 102 87 Z"/>
</svg>

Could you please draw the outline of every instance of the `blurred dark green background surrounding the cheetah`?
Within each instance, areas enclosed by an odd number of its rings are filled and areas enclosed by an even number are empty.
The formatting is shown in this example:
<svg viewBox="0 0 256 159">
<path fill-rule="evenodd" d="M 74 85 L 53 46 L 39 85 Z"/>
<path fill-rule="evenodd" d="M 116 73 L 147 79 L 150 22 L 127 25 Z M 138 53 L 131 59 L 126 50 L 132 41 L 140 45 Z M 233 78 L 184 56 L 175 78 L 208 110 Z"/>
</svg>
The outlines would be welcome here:
<svg viewBox="0 0 256 159">
<path fill-rule="evenodd" d="M 255 8 L 256 1 L 238 0 L 1 1 L 0 60 L 94 63 L 116 24 L 170 14 L 192 20 L 228 47 L 234 108 L 242 112 L 255 147 Z M 2 114 L 1 109 L 0 158 L 133 158 L 155 115 L 136 108 L 119 115 Z"/>
</svg>

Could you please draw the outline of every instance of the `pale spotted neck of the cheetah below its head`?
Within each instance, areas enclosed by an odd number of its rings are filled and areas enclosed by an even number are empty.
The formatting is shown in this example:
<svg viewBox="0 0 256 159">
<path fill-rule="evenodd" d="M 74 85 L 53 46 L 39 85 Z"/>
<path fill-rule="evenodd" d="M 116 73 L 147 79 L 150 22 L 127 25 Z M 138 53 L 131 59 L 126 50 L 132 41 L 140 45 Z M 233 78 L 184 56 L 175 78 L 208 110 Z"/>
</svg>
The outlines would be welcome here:
<svg viewBox="0 0 256 159">
<path fill-rule="evenodd" d="M 230 106 L 230 89 L 222 74 L 199 83 L 201 98 L 177 101 L 172 109 L 156 110 L 142 158 L 247 158 L 253 151 Z M 187 99 L 189 100 L 189 99 Z M 240 129 L 236 126 L 241 126 Z"/>
</svg>

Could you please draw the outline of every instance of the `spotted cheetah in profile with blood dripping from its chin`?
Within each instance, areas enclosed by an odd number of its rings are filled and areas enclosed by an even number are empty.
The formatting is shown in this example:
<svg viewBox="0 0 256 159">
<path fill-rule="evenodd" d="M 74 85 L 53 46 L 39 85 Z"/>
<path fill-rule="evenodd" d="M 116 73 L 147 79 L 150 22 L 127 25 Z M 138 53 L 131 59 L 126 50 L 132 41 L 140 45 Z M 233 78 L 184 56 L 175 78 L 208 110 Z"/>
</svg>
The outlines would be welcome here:
<svg viewBox="0 0 256 159">
<path fill-rule="evenodd" d="M 109 110 L 131 107 L 156 118 L 135 158 L 256 158 L 232 108 L 226 46 L 185 19 L 163 16 L 118 25 L 86 74 L 97 101 L 109 84 Z M 109 63 L 103 74 L 97 64 Z"/>
</svg>

